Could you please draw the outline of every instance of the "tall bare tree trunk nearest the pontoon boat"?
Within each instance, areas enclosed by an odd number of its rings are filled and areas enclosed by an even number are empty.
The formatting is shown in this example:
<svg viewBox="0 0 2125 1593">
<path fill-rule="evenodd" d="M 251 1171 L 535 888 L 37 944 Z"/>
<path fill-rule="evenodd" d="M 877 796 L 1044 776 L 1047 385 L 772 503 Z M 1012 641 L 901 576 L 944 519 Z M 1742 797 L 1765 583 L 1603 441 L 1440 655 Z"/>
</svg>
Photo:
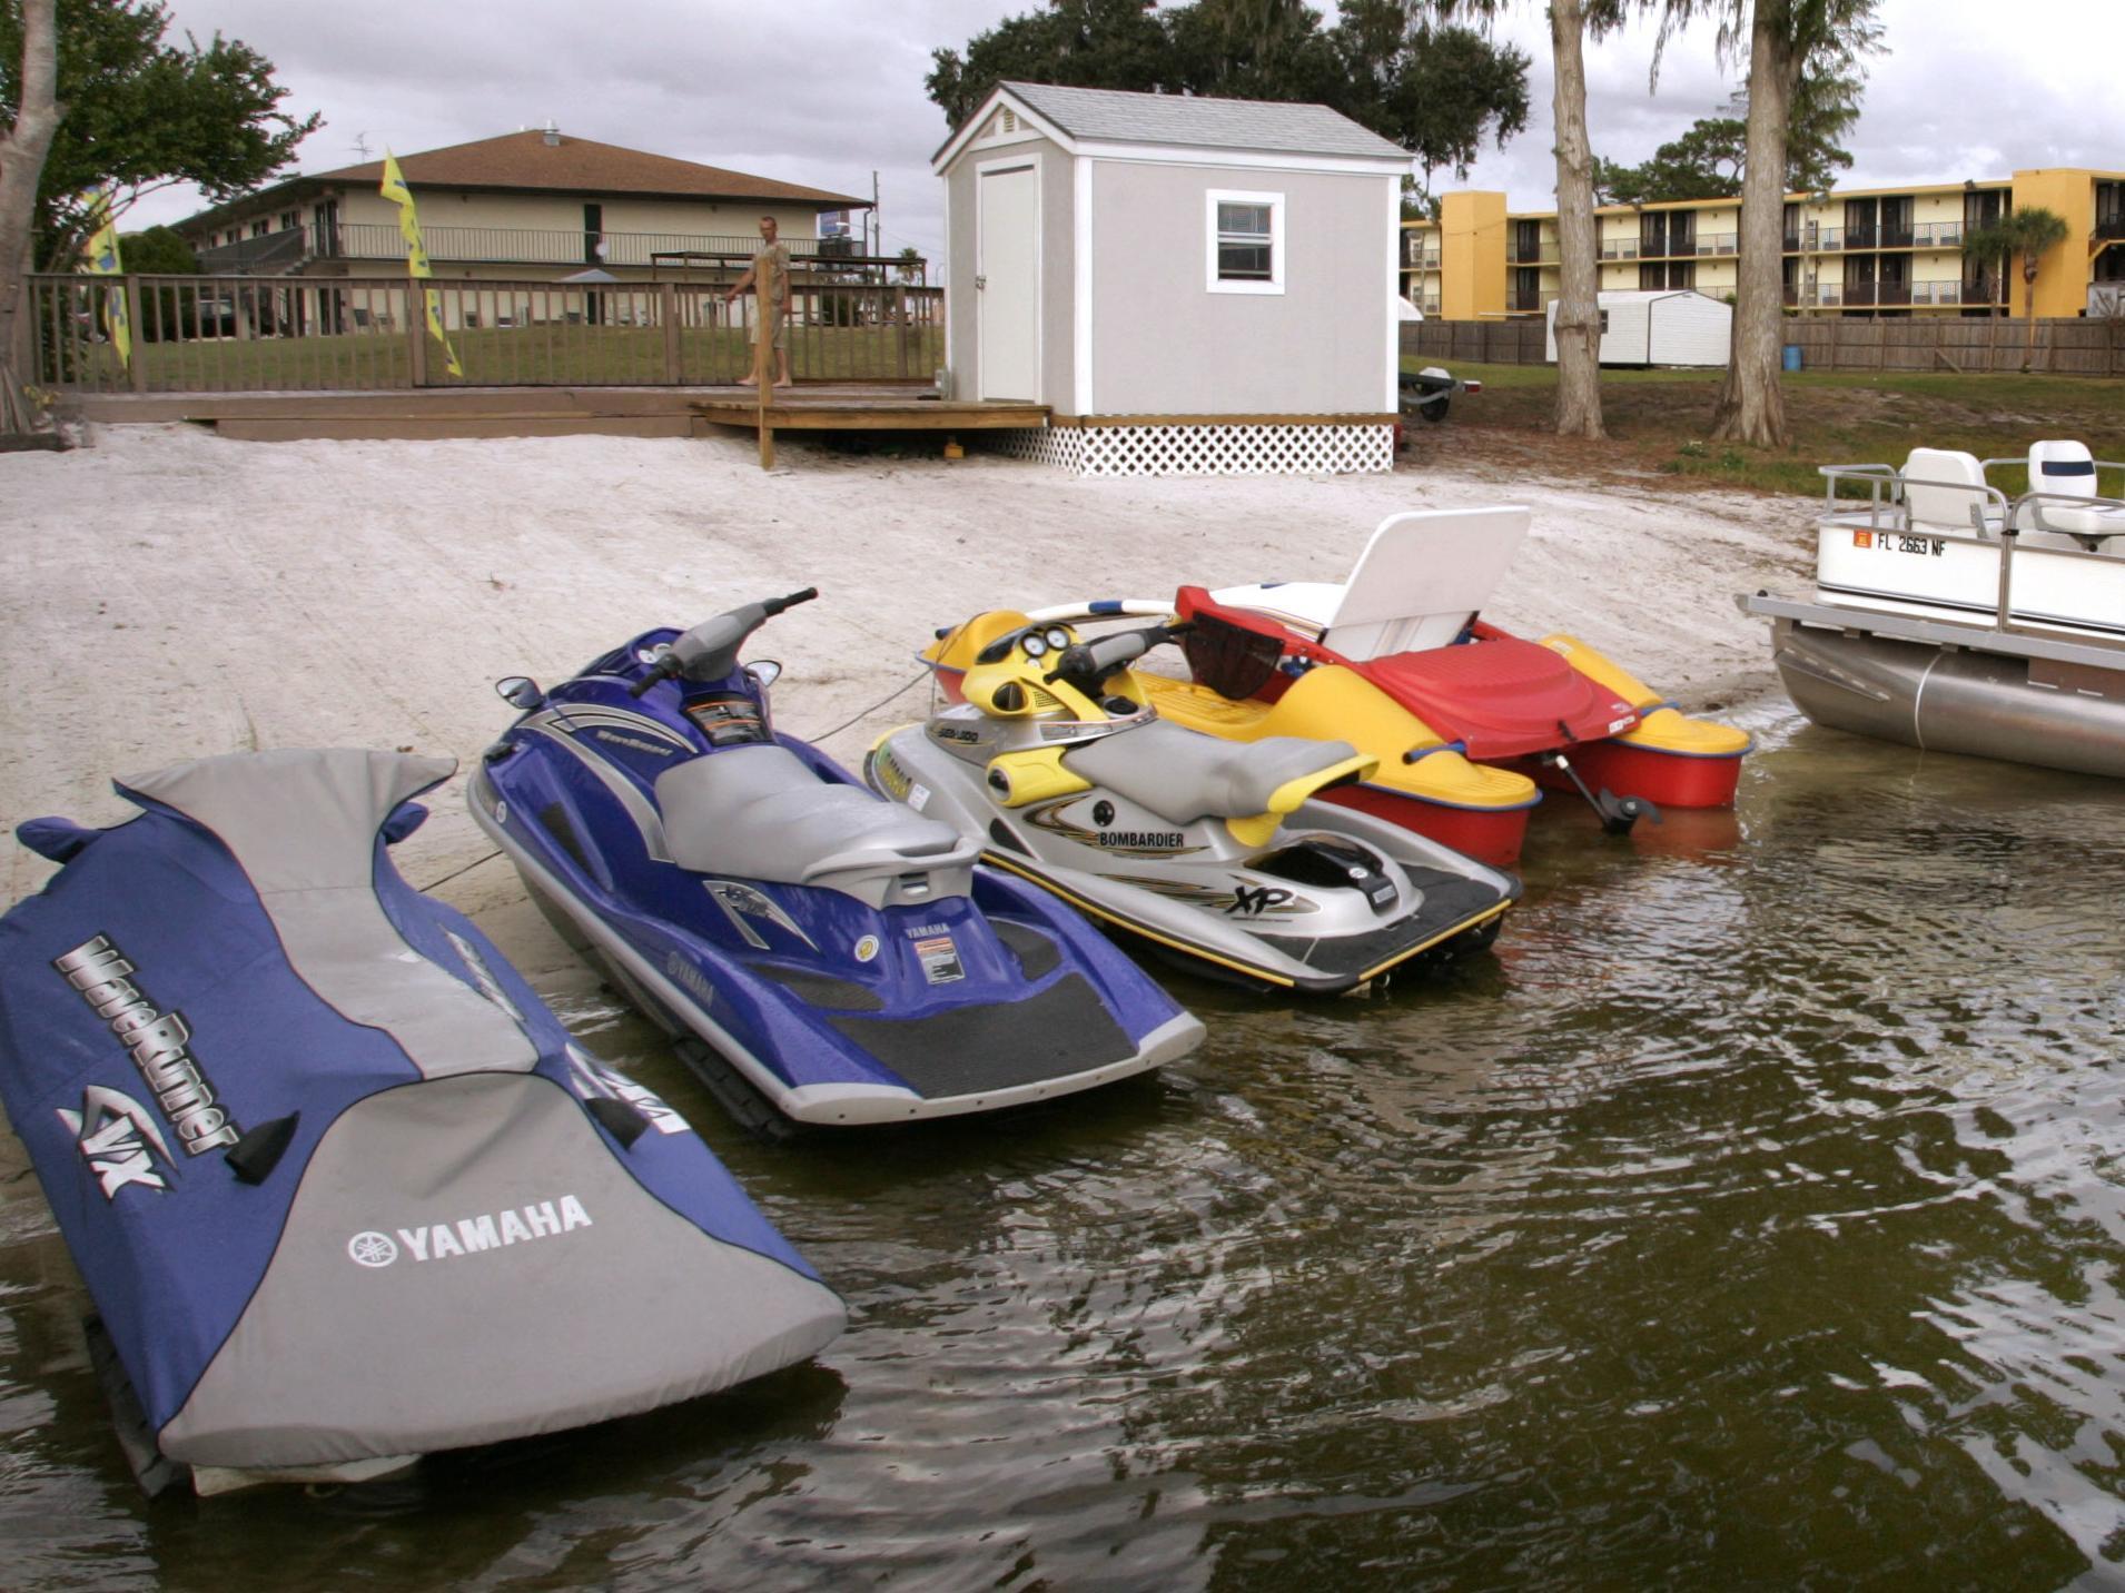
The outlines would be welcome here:
<svg viewBox="0 0 2125 1593">
<path fill-rule="evenodd" d="M 1785 127 L 1800 79 L 1800 53 L 1772 25 L 1772 0 L 1755 0 L 1749 23 L 1749 157 L 1740 176 L 1740 263 L 1734 340 L 1713 408 L 1713 435 L 1785 448 L 1785 391 L 1779 344 L 1785 333 Z"/>
</svg>

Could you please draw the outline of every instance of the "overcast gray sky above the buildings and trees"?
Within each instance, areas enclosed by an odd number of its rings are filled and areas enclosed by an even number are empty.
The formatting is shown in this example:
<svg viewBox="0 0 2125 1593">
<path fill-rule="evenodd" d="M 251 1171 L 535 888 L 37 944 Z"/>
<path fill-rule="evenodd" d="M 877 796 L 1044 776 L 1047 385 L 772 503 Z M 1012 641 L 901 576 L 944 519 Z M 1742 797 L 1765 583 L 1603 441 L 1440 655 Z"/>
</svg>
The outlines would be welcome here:
<svg viewBox="0 0 2125 1593">
<path fill-rule="evenodd" d="M 264 51 L 289 106 L 325 125 L 300 166 L 329 170 L 459 144 L 550 117 L 567 134 L 869 195 L 886 253 L 937 257 L 944 113 L 922 91 L 931 49 L 965 47 L 1039 0 L 168 0 L 174 28 Z M 1330 8 L 1332 6 L 1324 6 Z M 1485 149 L 1470 187 L 1551 204 L 1547 23 L 1517 6 L 1498 34 L 1530 57 L 1536 115 Z M 2125 168 L 2125 4 L 1883 0 L 1847 185 L 2006 176 L 2027 166 Z M 1711 28 L 1670 40 L 1649 93 L 1649 30 L 1590 53 L 1594 149 L 1645 159 L 1734 87 Z M 1458 187 L 1451 176 L 1441 187 Z M 149 195 L 125 225 L 176 221 L 196 195 Z"/>
</svg>

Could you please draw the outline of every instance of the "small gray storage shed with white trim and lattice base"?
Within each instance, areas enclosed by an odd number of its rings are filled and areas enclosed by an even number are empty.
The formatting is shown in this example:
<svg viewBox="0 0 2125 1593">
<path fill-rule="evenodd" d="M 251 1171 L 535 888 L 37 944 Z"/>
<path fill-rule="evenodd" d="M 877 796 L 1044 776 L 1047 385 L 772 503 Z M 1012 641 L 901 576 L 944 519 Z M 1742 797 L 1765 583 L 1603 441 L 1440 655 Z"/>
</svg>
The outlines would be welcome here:
<svg viewBox="0 0 2125 1593">
<path fill-rule="evenodd" d="M 1082 474 L 1390 469 L 1409 153 L 1318 104 L 999 83 L 933 159 L 960 399 Z"/>
</svg>

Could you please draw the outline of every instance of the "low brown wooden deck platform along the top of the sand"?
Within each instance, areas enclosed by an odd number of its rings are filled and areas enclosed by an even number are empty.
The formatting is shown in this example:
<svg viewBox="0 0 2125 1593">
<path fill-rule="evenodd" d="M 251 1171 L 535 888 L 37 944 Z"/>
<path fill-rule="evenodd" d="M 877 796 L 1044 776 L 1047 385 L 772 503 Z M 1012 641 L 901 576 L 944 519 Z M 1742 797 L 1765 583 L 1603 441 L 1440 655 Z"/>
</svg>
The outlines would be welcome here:
<svg viewBox="0 0 2125 1593">
<path fill-rule="evenodd" d="M 767 431 L 988 431 L 1046 427 L 1041 404 L 944 401 L 929 387 L 803 382 L 771 393 Z M 89 421 L 191 421 L 242 442 L 300 438 L 699 438 L 759 427 L 750 387 L 421 387 L 385 393 L 108 393 Z"/>
</svg>

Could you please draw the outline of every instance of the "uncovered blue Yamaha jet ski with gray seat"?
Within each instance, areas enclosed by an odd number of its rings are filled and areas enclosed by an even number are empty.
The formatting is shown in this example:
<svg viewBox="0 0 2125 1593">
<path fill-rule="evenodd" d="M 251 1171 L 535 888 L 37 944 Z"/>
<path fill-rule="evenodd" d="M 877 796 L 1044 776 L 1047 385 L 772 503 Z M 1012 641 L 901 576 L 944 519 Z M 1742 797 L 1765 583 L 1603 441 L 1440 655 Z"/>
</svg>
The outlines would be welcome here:
<svg viewBox="0 0 2125 1593">
<path fill-rule="evenodd" d="M 648 631 L 523 709 L 472 816 L 740 1121 L 899 1124 L 1124 1079 L 1203 1026 L 1090 924 L 776 733 L 737 652 L 816 590 Z M 763 1111 L 765 1107 L 765 1111 Z"/>
</svg>

